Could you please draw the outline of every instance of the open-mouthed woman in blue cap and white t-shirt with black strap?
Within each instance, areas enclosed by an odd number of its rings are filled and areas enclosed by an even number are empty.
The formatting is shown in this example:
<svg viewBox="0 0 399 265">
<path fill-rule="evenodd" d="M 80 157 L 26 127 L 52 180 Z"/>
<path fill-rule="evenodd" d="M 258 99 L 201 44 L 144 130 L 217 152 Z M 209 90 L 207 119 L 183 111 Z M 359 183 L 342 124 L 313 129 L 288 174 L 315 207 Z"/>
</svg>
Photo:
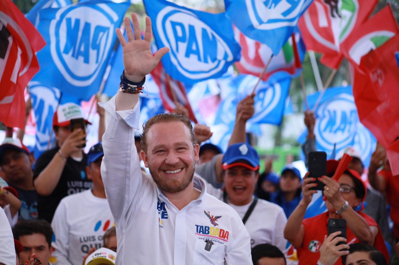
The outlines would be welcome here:
<svg viewBox="0 0 399 265">
<path fill-rule="evenodd" d="M 239 214 L 251 237 L 251 247 L 269 243 L 284 252 L 287 240 L 284 226 L 287 218 L 278 205 L 255 198 L 253 193 L 259 177 L 259 156 L 245 143 L 227 148 L 221 163 L 225 189 L 207 185 L 207 192 L 224 201 Z"/>
</svg>

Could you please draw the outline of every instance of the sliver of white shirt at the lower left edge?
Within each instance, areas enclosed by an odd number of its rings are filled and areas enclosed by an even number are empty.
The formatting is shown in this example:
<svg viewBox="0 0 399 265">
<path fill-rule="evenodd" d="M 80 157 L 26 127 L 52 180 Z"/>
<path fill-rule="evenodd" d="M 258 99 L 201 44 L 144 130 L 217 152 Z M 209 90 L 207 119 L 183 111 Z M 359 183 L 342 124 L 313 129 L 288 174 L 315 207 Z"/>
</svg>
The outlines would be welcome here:
<svg viewBox="0 0 399 265">
<path fill-rule="evenodd" d="M 14 237 L 11 226 L 3 208 L 0 207 L 0 263 L 13 265 L 16 263 Z"/>
</svg>

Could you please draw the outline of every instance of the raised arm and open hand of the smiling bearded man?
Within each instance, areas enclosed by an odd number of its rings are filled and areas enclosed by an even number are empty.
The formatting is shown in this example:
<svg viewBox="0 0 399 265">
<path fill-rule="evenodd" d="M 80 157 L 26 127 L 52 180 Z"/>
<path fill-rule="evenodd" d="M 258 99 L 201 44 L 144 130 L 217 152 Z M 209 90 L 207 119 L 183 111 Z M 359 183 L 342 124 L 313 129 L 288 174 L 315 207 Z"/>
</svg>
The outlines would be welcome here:
<svg viewBox="0 0 399 265">
<path fill-rule="evenodd" d="M 144 39 L 141 39 L 138 18 L 134 13 L 132 21 L 134 35 L 129 19 L 124 20 L 128 41 L 124 39 L 120 29 L 116 32 L 123 47 L 125 78 L 130 82 L 139 83 L 154 69 L 168 48 L 162 48 L 152 56 L 150 18 L 146 18 Z M 103 135 L 104 158 L 101 176 L 115 223 L 123 230 L 126 215 L 134 210 L 144 181 L 134 145 L 134 129 L 138 129 L 140 119 L 138 94 L 118 92 L 101 106 L 109 113 L 108 126 Z"/>
</svg>

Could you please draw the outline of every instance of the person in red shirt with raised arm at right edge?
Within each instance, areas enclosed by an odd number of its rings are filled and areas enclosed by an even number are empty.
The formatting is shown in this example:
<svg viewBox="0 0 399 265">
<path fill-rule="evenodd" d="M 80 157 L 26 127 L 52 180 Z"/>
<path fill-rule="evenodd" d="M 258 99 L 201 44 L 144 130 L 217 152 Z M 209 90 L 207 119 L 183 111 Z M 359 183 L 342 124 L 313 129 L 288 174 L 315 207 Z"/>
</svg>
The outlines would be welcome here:
<svg viewBox="0 0 399 265">
<path fill-rule="evenodd" d="M 383 168 L 379 170 L 382 166 Z M 391 205 L 393 236 L 397 242 L 399 240 L 399 175 L 392 174 L 385 148 L 379 143 L 371 155 L 368 178 L 371 186 L 385 194 Z"/>
</svg>

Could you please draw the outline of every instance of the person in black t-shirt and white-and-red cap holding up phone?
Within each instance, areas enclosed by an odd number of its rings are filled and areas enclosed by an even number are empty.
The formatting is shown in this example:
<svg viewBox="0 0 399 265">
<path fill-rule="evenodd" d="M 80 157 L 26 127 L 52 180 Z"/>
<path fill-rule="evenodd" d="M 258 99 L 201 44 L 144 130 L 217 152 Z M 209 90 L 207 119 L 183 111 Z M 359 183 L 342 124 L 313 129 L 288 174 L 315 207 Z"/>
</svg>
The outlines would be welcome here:
<svg viewBox="0 0 399 265">
<path fill-rule="evenodd" d="M 83 129 L 71 130 L 73 119 L 83 119 L 79 105 L 65 103 L 57 108 L 53 117 L 57 146 L 41 154 L 35 164 L 39 218 L 49 223 L 63 197 L 91 189 L 93 185 L 86 176 L 87 155 L 82 151 L 86 134 Z"/>
</svg>

